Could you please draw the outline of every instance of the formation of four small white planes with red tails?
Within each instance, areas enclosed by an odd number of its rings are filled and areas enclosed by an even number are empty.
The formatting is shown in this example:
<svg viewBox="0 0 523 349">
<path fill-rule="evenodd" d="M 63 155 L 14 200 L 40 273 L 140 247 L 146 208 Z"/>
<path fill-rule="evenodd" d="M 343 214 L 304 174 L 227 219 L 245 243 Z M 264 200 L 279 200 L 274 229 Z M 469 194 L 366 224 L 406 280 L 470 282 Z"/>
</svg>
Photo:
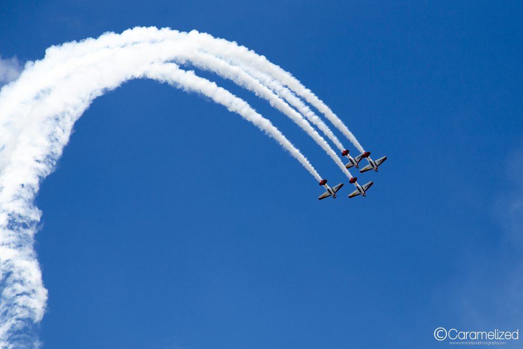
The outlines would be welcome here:
<svg viewBox="0 0 523 349">
<path fill-rule="evenodd" d="M 374 171 L 378 172 L 378 167 L 385 160 L 387 160 L 387 157 L 383 156 L 383 157 L 380 157 L 380 159 L 374 161 L 370 158 L 370 152 L 363 152 L 356 157 L 352 157 L 349 155 L 349 151 L 347 149 L 345 149 L 342 152 L 342 156 L 345 156 L 345 157 L 347 157 L 347 159 L 349 159 L 349 162 L 345 165 L 346 168 L 350 168 L 350 167 L 359 168 L 359 162 L 363 159 L 367 159 L 369 164 L 366 165 L 365 167 L 361 168 L 360 173 L 367 172 L 370 170 L 374 170 Z M 352 177 L 349 180 L 349 183 L 354 184 L 354 186 L 356 187 L 356 190 L 354 190 L 354 192 L 352 192 L 348 195 L 349 198 L 353 198 L 358 195 L 367 196 L 367 190 L 374 184 L 374 182 L 370 181 L 366 184 L 359 185 L 357 180 L 358 180 L 358 178 L 356 178 L 356 177 Z M 335 199 L 336 193 L 338 192 L 338 190 L 340 188 L 343 187 L 343 183 L 340 183 L 331 188 L 327 185 L 327 179 L 322 179 L 322 181 L 320 182 L 320 185 L 323 185 L 325 187 L 325 189 L 327 190 L 325 193 L 320 195 L 320 197 L 318 197 L 318 199 L 320 199 L 320 200 L 328 198 L 329 196 L 332 196 Z"/>
</svg>

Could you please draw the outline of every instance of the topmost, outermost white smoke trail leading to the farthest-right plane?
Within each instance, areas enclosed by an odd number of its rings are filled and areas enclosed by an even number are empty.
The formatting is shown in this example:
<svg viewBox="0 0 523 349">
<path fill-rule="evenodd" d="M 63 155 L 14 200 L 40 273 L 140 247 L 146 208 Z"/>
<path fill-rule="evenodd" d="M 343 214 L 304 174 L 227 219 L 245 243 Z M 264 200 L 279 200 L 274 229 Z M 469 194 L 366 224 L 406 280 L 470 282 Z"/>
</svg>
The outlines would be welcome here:
<svg viewBox="0 0 523 349">
<path fill-rule="evenodd" d="M 334 114 L 331 108 L 312 93 L 310 89 L 303 86 L 297 78 L 293 77 L 289 72 L 281 69 L 280 66 L 270 62 L 264 56 L 258 55 L 244 46 L 238 46 L 236 42 L 214 38 L 208 33 L 200 33 L 196 30 L 192 30 L 188 35 L 198 37 L 202 50 L 217 55 L 231 63 L 242 66 L 242 68 L 249 74 L 255 76 L 256 71 L 265 72 L 275 80 L 287 85 L 298 96 L 305 98 L 307 102 L 320 110 L 320 112 L 322 112 L 322 114 L 325 115 L 325 117 L 331 121 L 332 124 L 339 129 L 360 152 L 364 151 L 354 134 L 350 132 L 343 121 Z"/>
</svg>

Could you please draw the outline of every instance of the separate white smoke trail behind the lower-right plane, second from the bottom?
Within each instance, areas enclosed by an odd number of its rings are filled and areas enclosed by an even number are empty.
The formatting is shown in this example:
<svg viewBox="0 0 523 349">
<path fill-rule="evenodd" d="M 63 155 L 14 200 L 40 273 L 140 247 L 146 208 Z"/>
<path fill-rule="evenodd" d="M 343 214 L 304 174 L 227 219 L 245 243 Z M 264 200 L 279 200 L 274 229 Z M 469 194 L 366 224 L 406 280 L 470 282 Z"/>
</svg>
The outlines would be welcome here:
<svg viewBox="0 0 523 349">
<path fill-rule="evenodd" d="M 220 76 L 228 78 L 234 81 L 236 84 L 247 88 L 249 91 L 254 92 L 257 96 L 268 100 L 271 106 L 287 115 L 292 121 L 297 123 L 297 125 L 300 126 L 317 144 L 319 144 L 320 147 L 334 160 L 334 162 L 348 178 L 352 177 L 334 150 L 299 112 L 291 108 L 285 102 L 285 100 L 278 97 L 271 91 L 271 89 L 261 84 L 258 80 L 256 80 L 256 78 L 247 74 L 240 67 L 233 66 L 222 59 L 197 51 L 184 52 L 183 55 L 180 55 L 176 60 L 183 63 L 185 60 L 189 60 L 192 64 L 199 67 L 200 69 L 211 70 Z"/>
</svg>

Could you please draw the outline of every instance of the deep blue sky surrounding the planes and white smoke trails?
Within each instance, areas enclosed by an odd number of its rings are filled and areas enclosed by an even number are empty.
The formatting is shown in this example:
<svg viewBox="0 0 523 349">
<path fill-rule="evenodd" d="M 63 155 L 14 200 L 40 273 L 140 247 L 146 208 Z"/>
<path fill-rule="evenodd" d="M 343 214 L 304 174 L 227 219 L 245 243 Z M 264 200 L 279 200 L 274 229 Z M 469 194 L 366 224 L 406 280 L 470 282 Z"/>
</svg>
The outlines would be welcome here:
<svg viewBox="0 0 523 349">
<path fill-rule="evenodd" d="M 290 71 L 389 158 L 358 176 L 366 198 L 319 201 L 276 142 L 196 94 L 132 81 L 96 99 L 37 199 L 43 347 L 447 347 L 437 327 L 519 328 L 521 7 L 3 1 L 3 57 L 133 26 L 209 32 Z M 203 75 L 347 182 L 285 116 Z"/>
</svg>

